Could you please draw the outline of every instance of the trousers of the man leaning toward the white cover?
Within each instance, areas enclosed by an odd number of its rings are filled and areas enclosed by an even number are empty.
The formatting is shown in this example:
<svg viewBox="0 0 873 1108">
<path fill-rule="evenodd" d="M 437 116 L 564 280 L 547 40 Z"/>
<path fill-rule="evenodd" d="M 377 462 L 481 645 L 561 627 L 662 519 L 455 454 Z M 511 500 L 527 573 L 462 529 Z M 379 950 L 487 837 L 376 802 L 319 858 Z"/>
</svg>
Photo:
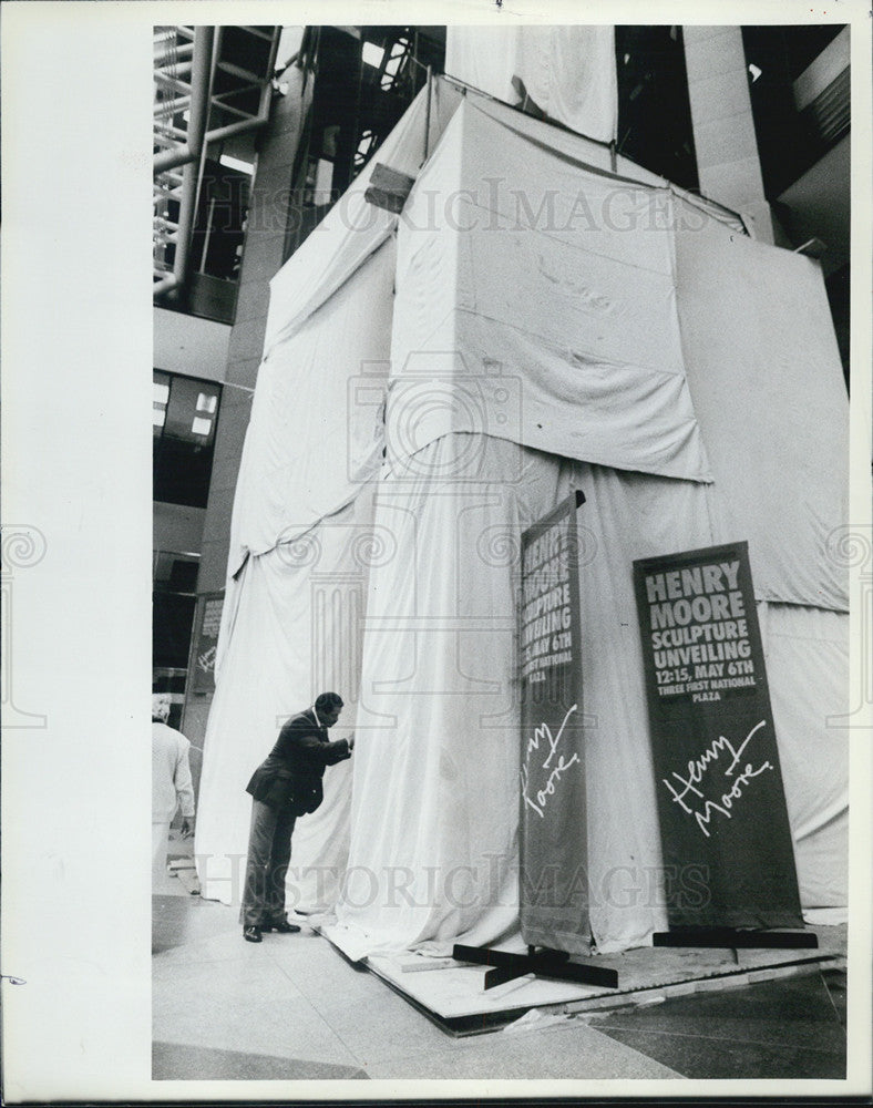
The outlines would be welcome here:
<svg viewBox="0 0 873 1108">
<path fill-rule="evenodd" d="M 296 817 L 288 804 L 271 808 L 251 801 L 246 883 L 239 922 L 244 927 L 266 927 L 285 919 L 285 876 L 291 860 Z"/>
</svg>

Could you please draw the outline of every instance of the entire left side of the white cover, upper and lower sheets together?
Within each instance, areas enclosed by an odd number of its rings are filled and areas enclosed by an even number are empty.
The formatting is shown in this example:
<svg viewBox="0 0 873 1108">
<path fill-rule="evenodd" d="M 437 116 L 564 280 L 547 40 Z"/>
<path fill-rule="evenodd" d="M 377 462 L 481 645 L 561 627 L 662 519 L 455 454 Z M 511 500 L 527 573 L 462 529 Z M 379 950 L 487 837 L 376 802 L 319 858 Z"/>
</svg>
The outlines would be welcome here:
<svg viewBox="0 0 873 1108">
<path fill-rule="evenodd" d="M 267 756 L 284 718 L 319 691 L 341 689 L 347 708 L 335 735 L 353 727 L 366 575 L 390 550 L 390 535 L 373 527 L 372 478 L 383 449 L 393 256 L 387 239 L 274 343 L 258 377 L 234 503 L 197 821 L 204 893 L 226 903 L 238 896 L 247 848 L 246 774 Z M 343 762 L 326 774 L 322 808 L 295 832 L 300 885 L 289 904 L 333 903 L 350 792 Z"/>
</svg>

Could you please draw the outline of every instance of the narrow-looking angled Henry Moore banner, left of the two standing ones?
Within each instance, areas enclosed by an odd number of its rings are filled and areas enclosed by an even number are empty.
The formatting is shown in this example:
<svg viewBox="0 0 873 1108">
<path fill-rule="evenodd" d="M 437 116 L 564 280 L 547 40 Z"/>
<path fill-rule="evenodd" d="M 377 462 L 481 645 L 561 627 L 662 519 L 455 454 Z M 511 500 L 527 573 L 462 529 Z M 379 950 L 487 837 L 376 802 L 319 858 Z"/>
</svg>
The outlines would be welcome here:
<svg viewBox="0 0 873 1108">
<path fill-rule="evenodd" d="M 520 912 L 524 941 L 588 952 L 576 491 L 522 534 Z"/>
</svg>

